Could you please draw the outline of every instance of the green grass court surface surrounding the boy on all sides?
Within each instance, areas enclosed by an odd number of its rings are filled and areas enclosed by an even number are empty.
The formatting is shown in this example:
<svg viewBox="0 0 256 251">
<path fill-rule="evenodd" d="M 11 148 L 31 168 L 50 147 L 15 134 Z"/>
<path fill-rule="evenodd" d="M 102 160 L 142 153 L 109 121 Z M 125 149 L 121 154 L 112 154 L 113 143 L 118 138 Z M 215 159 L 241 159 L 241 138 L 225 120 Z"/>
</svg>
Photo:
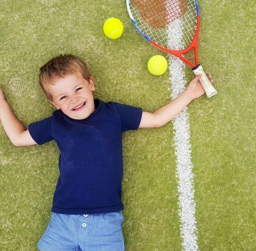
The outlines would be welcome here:
<svg viewBox="0 0 256 251">
<path fill-rule="evenodd" d="M 198 246 L 256 250 L 256 3 L 199 0 L 199 62 L 218 94 L 189 105 Z M 89 65 L 95 98 L 152 112 L 170 101 L 169 73 L 147 70 L 168 56 L 135 30 L 125 0 L 0 0 L 0 86 L 28 124 L 55 110 L 38 85 L 39 68 L 60 53 Z M 117 17 L 124 34 L 103 33 Z M 131 39 L 132 38 L 132 39 Z M 191 55 L 189 55 L 191 57 Z M 193 78 L 187 67 L 186 79 Z M 16 148 L 0 124 L 0 250 L 36 251 L 51 217 L 59 176 L 55 142 Z M 180 251 L 173 124 L 124 134 L 123 234 L 127 251 Z"/>
</svg>

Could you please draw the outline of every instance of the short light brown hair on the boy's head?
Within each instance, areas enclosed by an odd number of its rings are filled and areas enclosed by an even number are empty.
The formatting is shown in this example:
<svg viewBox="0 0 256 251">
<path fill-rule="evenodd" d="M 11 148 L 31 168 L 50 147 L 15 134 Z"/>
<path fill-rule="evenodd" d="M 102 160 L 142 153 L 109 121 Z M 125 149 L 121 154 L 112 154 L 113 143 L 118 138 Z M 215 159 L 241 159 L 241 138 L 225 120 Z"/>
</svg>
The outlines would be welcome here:
<svg viewBox="0 0 256 251">
<path fill-rule="evenodd" d="M 86 63 L 72 54 L 52 58 L 40 68 L 39 85 L 48 100 L 53 101 L 52 94 L 49 92 L 49 85 L 54 85 L 53 79 L 57 77 L 64 78 L 66 74 L 70 73 L 76 76 L 80 73 L 84 79 L 90 82 L 91 74 Z"/>
</svg>

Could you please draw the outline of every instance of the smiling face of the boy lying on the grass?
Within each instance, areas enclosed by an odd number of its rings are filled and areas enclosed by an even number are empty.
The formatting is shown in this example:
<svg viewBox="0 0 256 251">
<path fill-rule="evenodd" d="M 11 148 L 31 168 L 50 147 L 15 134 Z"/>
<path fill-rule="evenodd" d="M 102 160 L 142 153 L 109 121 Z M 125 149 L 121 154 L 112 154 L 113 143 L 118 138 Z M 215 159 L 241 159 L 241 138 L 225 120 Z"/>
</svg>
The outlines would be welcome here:
<svg viewBox="0 0 256 251">
<path fill-rule="evenodd" d="M 50 85 L 49 92 L 53 101 L 49 100 L 57 109 L 61 109 L 68 117 L 82 120 L 94 112 L 92 91 L 95 90 L 93 77 L 90 82 L 78 73 L 67 74 L 65 78 L 54 79 L 55 84 Z"/>
</svg>

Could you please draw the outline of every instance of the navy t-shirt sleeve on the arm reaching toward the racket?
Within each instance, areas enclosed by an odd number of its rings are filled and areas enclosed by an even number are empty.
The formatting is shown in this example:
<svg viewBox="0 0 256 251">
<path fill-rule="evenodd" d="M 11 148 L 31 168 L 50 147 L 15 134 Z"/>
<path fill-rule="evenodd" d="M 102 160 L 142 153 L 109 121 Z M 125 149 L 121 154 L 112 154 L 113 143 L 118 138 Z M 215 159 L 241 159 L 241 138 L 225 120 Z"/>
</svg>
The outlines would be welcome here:
<svg viewBox="0 0 256 251">
<path fill-rule="evenodd" d="M 114 103 L 121 120 L 121 130 L 137 130 L 142 118 L 142 108 Z"/>
</svg>

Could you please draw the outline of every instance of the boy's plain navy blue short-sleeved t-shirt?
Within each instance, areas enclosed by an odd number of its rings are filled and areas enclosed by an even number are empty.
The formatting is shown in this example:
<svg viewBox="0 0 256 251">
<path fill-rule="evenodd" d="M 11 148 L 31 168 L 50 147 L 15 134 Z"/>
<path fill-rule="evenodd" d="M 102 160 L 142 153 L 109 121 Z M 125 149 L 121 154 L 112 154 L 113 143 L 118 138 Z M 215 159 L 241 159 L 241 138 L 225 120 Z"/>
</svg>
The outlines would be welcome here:
<svg viewBox="0 0 256 251">
<path fill-rule="evenodd" d="M 74 120 L 61 110 L 30 124 L 37 144 L 55 140 L 60 150 L 59 180 L 52 212 L 64 214 L 111 213 L 124 209 L 122 133 L 137 130 L 142 109 L 94 100 L 96 110 Z"/>
</svg>

